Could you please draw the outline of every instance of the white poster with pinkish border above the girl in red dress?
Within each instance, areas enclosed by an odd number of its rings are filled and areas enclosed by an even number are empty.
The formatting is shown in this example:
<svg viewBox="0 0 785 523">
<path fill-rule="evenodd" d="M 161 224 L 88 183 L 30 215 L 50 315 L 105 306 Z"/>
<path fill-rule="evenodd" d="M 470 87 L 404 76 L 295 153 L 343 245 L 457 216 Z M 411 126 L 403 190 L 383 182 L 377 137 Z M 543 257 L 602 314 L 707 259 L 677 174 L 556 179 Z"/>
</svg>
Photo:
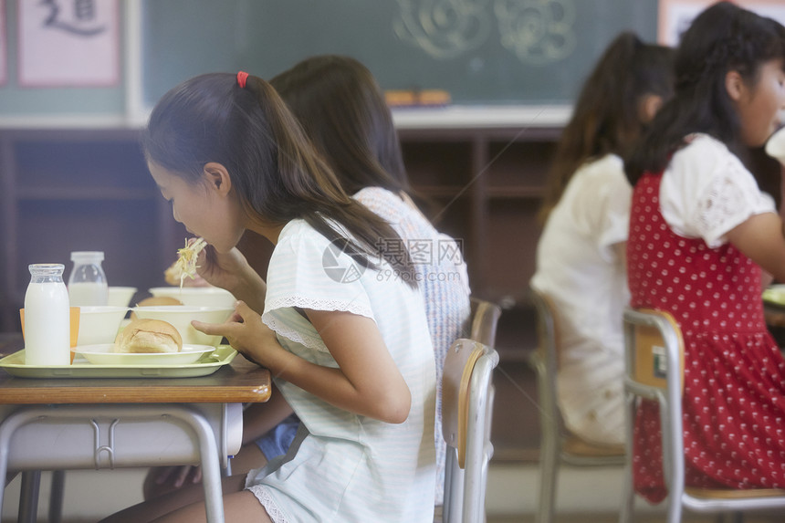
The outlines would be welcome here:
<svg viewBox="0 0 785 523">
<path fill-rule="evenodd" d="M 715 2 L 717 0 L 660 0 L 657 41 L 665 46 L 677 46 L 693 18 Z M 736 4 L 785 25 L 783 0 L 736 0 Z"/>
</svg>

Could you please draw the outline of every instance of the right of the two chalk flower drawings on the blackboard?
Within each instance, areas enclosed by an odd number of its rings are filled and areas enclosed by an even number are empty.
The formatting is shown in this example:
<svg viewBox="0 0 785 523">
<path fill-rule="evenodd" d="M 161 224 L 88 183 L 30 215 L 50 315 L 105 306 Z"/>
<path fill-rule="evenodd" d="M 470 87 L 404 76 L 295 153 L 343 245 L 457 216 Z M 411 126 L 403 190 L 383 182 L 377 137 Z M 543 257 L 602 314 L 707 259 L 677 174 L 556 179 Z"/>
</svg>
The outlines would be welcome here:
<svg viewBox="0 0 785 523">
<path fill-rule="evenodd" d="M 501 44 L 518 59 L 546 65 L 575 50 L 574 0 L 496 0 Z"/>
</svg>

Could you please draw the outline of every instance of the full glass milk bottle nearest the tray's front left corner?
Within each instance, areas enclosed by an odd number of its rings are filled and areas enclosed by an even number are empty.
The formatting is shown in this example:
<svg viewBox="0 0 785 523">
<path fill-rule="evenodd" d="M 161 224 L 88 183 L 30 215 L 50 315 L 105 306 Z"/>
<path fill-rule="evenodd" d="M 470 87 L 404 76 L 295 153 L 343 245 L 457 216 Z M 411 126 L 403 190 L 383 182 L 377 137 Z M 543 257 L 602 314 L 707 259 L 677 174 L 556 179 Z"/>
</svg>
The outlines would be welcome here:
<svg viewBox="0 0 785 523">
<path fill-rule="evenodd" d="M 34 264 L 25 294 L 25 363 L 69 365 L 70 308 L 62 264 Z"/>
</svg>

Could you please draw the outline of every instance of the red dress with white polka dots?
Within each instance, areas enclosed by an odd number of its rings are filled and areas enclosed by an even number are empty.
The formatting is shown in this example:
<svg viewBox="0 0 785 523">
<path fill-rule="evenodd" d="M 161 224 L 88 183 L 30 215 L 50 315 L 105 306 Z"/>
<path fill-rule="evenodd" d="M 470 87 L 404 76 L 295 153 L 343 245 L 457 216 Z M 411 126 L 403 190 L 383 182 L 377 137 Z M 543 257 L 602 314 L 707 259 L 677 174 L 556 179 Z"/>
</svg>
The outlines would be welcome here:
<svg viewBox="0 0 785 523">
<path fill-rule="evenodd" d="M 785 487 L 785 361 L 769 336 L 760 267 L 725 243 L 677 235 L 666 224 L 662 174 L 636 184 L 627 242 L 633 308 L 673 314 L 685 340 L 687 486 Z M 656 503 L 663 481 L 658 407 L 638 410 L 635 490 Z"/>
</svg>

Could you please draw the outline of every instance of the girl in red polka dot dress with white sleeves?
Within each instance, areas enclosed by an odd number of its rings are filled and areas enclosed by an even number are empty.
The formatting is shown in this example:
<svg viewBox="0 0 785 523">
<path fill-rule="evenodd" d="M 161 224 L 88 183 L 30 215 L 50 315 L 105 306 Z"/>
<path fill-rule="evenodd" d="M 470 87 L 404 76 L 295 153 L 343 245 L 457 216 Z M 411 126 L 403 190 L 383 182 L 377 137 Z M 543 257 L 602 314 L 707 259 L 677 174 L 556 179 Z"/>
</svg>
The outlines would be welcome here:
<svg viewBox="0 0 785 523">
<path fill-rule="evenodd" d="M 769 274 L 785 281 L 785 232 L 742 162 L 782 123 L 785 28 L 712 5 L 682 37 L 675 74 L 625 164 L 631 306 L 670 312 L 684 335 L 686 484 L 785 488 L 785 361 L 760 298 Z M 667 495 L 660 437 L 644 402 L 633 480 L 651 502 Z"/>
</svg>

